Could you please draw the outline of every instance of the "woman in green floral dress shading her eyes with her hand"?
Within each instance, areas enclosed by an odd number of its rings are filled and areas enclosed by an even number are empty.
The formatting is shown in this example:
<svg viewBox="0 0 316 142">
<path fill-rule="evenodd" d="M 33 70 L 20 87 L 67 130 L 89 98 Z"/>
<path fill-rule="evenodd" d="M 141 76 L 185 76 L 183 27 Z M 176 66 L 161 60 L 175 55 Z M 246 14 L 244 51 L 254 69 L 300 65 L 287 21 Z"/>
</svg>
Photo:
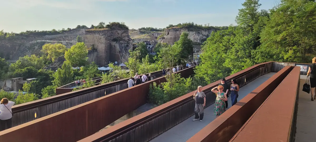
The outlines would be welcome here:
<svg viewBox="0 0 316 142">
<path fill-rule="evenodd" d="M 218 91 L 215 89 L 217 88 Z M 223 92 L 223 86 L 214 87 L 211 91 L 216 94 L 215 107 L 214 107 L 214 115 L 216 118 L 226 111 L 225 101 L 227 101 L 226 93 Z"/>
</svg>

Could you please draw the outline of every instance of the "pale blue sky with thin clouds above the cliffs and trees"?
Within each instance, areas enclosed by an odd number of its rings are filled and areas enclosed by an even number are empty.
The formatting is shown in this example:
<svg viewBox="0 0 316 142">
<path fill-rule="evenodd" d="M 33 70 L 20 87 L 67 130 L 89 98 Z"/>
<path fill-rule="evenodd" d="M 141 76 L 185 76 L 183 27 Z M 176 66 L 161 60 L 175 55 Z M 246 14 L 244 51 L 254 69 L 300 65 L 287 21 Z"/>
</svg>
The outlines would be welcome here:
<svg viewBox="0 0 316 142">
<path fill-rule="evenodd" d="M 279 0 L 261 0 L 271 9 Z M 0 0 L 0 30 L 52 30 L 88 27 L 100 21 L 125 22 L 131 28 L 183 22 L 228 26 L 235 23 L 244 0 Z"/>
</svg>

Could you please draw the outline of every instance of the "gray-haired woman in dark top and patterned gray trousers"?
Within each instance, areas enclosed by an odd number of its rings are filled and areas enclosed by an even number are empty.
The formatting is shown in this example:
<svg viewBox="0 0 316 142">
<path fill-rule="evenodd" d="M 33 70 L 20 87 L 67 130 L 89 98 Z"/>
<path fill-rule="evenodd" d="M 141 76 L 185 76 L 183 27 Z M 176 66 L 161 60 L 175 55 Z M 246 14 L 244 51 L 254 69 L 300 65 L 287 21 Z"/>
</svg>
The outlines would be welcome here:
<svg viewBox="0 0 316 142">
<path fill-rule="evenodd" d="M 195 117 L 193 121 L 197 121 L 198 118 L 200 118 L 200 121 L 203 120 L 204 116 L 204 107 L 206 103 L 206 95 L 202 91 L 202 86 L 197 87 L 197 91 L 194 92 L 193 99 L 195 100 L 195 107 L 194 107 L 194 114 Z M 198 114 L 200 113 L 200 116 Z"/>
</svg>

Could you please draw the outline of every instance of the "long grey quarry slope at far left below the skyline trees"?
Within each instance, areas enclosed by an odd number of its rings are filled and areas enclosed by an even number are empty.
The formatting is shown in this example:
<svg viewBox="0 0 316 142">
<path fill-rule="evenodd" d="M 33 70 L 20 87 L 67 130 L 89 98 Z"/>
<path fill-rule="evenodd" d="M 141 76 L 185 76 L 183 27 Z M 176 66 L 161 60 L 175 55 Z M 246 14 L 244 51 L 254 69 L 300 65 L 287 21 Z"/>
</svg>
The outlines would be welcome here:
<svg viewBox="0 0 316 142">
<path fill-rule="evenodd" d="M 73 29 L 57 35 L 16 35 L 14 39 L 0 39 L 0 57 L 15 62 L 25 55 L 39 55 L 44 44 L 64 44 L 67 48 L 76 44 L 77 36 L 83 36 L 86 29 Z M 83 38 L 83 37 L 82 37 Z"/>
</svg>

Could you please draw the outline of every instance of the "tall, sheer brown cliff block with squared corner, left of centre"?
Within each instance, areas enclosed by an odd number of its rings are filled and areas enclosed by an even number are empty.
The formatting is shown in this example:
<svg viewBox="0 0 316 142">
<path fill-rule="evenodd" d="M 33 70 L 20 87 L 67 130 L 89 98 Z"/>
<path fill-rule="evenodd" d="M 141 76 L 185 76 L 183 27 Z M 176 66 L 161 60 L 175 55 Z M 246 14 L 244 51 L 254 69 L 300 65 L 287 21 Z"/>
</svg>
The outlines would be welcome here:
<svg viewBox="0 0 316 142">
<path fill-rule="evenodd" d="M 87 47 L 96 49 L 97 58 L 94 61 L 97 65 L 105 66 L 109 62 L 126 62 L 129 57 L 129 50 L 132 50 L 133 42 L 128 30 L 87 30 L 84 35 L 84 42 Z"/>
</svg>

